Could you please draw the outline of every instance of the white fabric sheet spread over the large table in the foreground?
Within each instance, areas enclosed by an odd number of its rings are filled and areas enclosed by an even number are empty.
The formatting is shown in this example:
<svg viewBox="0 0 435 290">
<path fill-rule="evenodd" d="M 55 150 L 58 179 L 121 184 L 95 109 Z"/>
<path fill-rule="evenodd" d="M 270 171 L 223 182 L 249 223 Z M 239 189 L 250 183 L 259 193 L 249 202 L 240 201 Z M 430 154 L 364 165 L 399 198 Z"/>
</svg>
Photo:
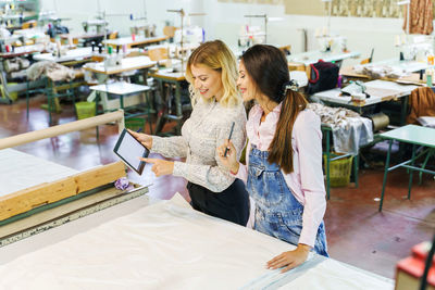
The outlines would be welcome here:
<svg viewBox="0 0 435 290">
<path fill-rule="evenodd" d="M 0 289 L 238 289 L 273 274 L 265 262 L 291 249 L 196 212 L 176 194 L 1 265 Z M 332 260 L 287 283 L 293 285 L 297 287 L 291 289 L 393 289 L 389 280 Z"/>
</svg>

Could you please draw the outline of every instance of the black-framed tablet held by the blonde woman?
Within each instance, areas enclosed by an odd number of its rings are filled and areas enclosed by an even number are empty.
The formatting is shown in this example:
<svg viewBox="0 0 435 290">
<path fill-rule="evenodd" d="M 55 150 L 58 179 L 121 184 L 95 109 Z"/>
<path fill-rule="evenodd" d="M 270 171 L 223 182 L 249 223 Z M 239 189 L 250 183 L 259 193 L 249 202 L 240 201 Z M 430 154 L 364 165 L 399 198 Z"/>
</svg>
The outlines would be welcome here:
<svg viewBox="0 0 435 290">
<path fill-rule="evenodd" d="M 128 167 L 139 175 L 142 174 L 145 162 L 140 161 L 139 157 L 148 157 L 149 150 L 136 140 L 126 129 L 121 133 L 113 152 L 115 152 Z"/>
</svg>

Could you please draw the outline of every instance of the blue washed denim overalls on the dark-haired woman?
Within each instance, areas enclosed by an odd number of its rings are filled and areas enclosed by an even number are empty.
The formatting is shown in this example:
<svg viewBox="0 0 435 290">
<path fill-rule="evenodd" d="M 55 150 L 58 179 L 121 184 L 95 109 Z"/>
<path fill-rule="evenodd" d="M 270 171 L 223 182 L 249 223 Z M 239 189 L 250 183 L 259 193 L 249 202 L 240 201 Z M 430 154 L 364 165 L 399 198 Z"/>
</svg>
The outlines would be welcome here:
<svg viewBox="0 0 435 290">
<path fill-rule="evenodd" d="M 268 156 L 268 151 L 260 151 L 252 144 L 247 188 L 256 201 L 254 228 L 297 245 L 302 230 L 303 205 L 288 188 L 279 166 L 270 164 Z M 328 256 L 323 220 L 318 229 L 314 251 Z"/>
</svg>

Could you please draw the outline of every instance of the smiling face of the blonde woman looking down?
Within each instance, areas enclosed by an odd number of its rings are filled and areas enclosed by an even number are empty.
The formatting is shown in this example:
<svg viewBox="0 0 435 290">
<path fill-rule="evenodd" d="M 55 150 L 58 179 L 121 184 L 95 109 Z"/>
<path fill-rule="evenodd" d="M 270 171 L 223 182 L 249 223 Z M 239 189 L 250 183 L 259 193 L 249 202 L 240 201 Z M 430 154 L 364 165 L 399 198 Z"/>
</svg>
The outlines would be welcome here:
<svg viewBox="0 0 435 290">
<path fill-rule="evenodd" d="M 221 100 L 224 93 L 222 85 L 221 72 L 212 70 L 203 64 L 192 64 L 190 66 L 194 87 L 202 96 L 202 98 L 210 100 L 215 98 Z"/>
</svg>

